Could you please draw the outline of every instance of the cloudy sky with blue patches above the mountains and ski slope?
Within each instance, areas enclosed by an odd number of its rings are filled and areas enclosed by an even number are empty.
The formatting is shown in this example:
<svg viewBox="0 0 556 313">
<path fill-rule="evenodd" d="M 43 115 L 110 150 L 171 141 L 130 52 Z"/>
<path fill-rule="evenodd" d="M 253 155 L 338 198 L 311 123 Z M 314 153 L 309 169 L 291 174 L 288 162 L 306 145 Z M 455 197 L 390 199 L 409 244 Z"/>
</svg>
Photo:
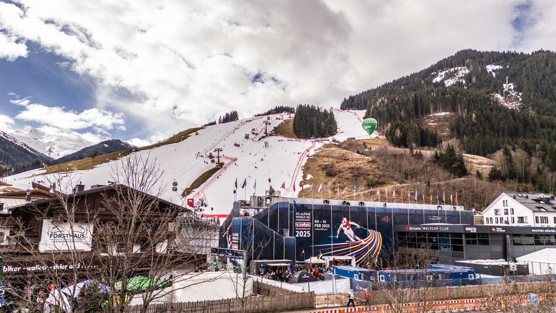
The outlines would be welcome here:
<svg viewBox="0 0 556 313">
<path fill-rule="evenodd" d="M 0 130 L 154 142 L 338 107 L 465 48 L 556 49 L 554 1 L 0 0 Z"/>
</svg>

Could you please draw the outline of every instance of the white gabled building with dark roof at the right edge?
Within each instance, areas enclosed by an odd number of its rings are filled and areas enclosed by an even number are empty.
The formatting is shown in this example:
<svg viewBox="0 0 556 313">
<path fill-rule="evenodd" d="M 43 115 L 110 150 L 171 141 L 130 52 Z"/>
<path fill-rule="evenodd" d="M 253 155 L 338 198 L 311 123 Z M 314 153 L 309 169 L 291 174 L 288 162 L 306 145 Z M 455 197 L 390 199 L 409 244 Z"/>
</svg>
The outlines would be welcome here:
<svg viewBox="0 0 556 313">
<path fill-rule="evenodd" d="M 544 193 L 503 192 L 483 211 L 485 225 L 556 226 L 556 200 Z"/>
</svg>

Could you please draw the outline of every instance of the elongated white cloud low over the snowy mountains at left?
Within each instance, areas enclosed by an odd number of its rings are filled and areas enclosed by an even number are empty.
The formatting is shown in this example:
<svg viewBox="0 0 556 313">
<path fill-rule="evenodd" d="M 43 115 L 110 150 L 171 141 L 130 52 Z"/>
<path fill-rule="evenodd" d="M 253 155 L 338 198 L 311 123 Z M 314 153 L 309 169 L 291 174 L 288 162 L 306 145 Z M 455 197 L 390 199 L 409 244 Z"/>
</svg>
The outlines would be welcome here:
<svg viewBox="0 0 556 313">
<path fill-rule="evenodd" d="M 47 107 L 39 103 L 32 103 L 29 97 L 10 100 L 10 102 L 24 107 L 24 110 L 16 116 L 19 120 L 34 121 L 63 130 L 93 128 L 96 132 L 107 133 L 107 130 L 115 127 L 125 129 L 123 113 L 112 113 L 98 108 L 75 112 L 66 110 L 64 107 Z"/>
</svg>

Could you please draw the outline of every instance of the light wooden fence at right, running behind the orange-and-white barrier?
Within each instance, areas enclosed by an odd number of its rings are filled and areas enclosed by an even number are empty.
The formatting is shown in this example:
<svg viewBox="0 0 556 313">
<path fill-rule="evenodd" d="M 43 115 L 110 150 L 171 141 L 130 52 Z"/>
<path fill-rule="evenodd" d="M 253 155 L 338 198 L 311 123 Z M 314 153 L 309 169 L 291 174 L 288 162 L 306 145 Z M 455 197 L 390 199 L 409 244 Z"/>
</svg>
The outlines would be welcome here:
<svg viewBox="0 0 556 313">
<path fill-rule="evenodd" d="M 543 294 L 554 292 L 556 290 L 556 282 L 519 282 L 517 284 L 499 284 L 499 285 L 476 285 L 476 286 L 458 286 L 458 287 L 434 287 L 414 290 L 374 290 L 371 291 L 369 303 L 371 305 L 380 305 L 385 303 L 385 299 L 392 299 L 399 296 L 406 302 L 419 302 L 426 298 L 426 301 L 439 301 L 450 299 L 473 299 L 478 297 L 500 297 L 527 294 Z M 426 296 L 424 295 L 426 292 Z M 401 293 L 404 293 L 403 295 Z M 399 295 L 395 295 L 399 294 Z M 355 302 L 362 304 L 365 302 L 363 292 L 355 292 Z M 346 293 L 331 293 L 315 295 L 315 307 L 334 307 L 345 305 L 347 303 Z"/>
</svg>

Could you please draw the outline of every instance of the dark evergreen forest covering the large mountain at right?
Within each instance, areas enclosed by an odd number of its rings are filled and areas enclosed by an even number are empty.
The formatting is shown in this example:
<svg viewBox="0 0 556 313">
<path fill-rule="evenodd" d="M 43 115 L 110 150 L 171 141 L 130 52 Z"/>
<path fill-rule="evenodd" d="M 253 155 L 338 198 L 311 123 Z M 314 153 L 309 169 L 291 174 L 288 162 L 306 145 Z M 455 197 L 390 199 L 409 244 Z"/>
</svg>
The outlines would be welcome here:
<svg viewBox="0 0 556 313">
<path fill-rule="evenodd" d="M 496 67 L 495 71 L 490 70 Z M 456 68 L 466 71 L 454 78 Z M 452 71 L 450 71 L 452 69 Z M 444 73 L 439 80 L 438 76 Z M 436 78 L 436 79 L 435 79 Z M 517 108 L 500 103 L 497 95 L 514 98 Z M 433 113 L 451 112 L 449 138 L 467 153 L 490 156 L 498 163 L 492 180 L 532 183 L 552 192 L 556 172 L 556 53 L 536 51 L 480 52 L 463 50 L 382 86 L 345 98 L 342 109 L 366 110 L 378 120 L 395 146 L 438 146 L 438 133 L 417 122 Z M 519 159 L 519 162 L 516 160 Z"/>
</svg>

